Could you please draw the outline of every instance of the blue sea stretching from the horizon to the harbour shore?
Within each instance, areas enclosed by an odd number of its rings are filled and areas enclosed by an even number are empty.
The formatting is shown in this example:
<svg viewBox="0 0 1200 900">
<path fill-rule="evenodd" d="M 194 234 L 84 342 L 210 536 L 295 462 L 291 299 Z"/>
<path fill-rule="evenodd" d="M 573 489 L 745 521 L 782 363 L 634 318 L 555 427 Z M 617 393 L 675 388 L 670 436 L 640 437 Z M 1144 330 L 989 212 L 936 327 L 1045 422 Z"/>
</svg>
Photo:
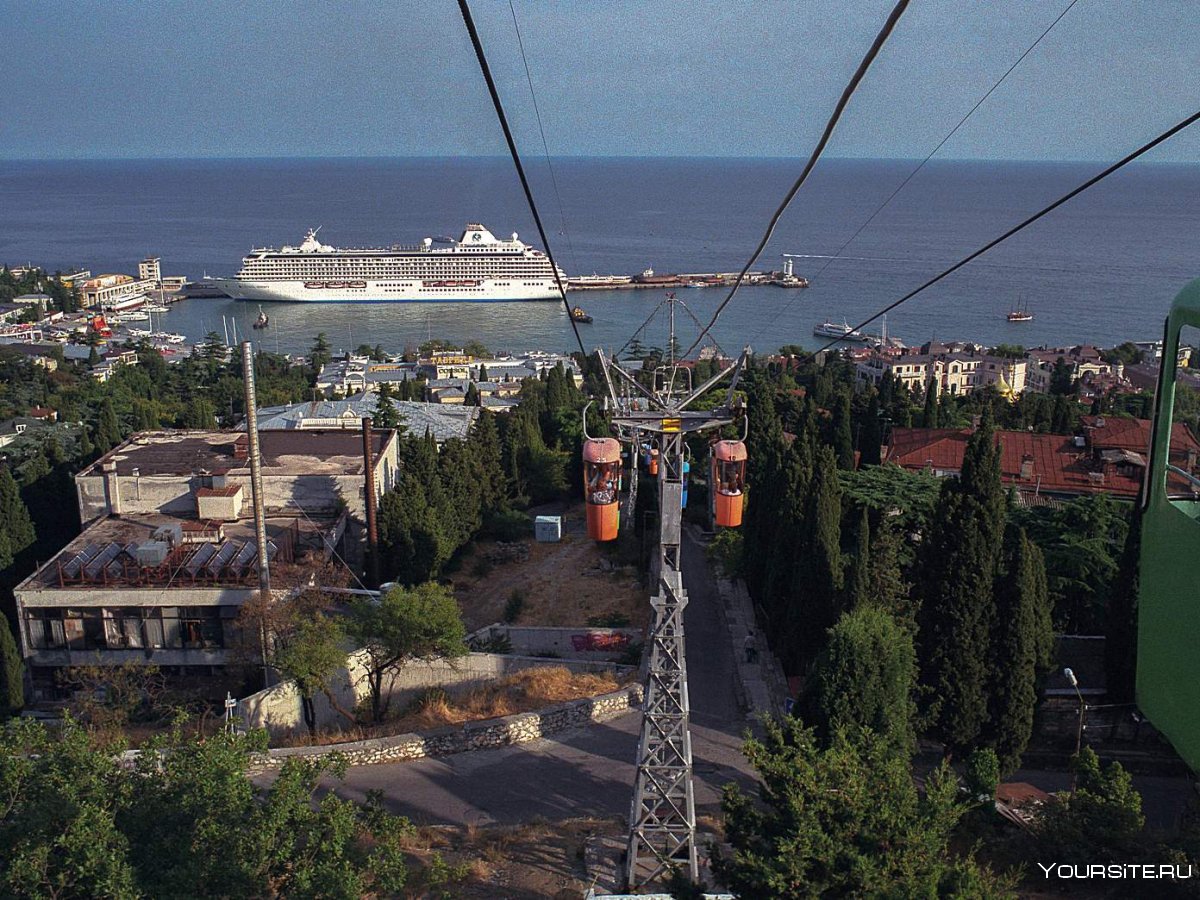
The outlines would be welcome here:
<svg viewBox="0 0 1200 900">
<path fill-rule="evenodd" d="M 571 275 L 736 271 L 749 258 L 803 160 L 530 158 L 552 251 Z M 817 348 L 826 320 L 856 324 L 1000 235 L 1103 163 L 904 160 L 820 162 L 756 269 L 784 253 L 803 290 L 744 287 L 712 338 L 743 347 Z M 896 193 L 896 188 L 911 180 Z M 1026 347 L 1154 340 L 1171 299 L 1200 275 L 1200 167 L 1140 163 L 1081 194 L 893 311 L 890 336 Z M 889 199 L 890 198 L 890 199 Z M 307 228 L 335 246 L 457 238 L 467 222 L 541 244 L 504 158 L 305 158 L 0 162 L 0 263 L 164 275 L 232 275 L 252 247 L 299 244 Z M 678 340 L 691 343 L 728 290 L 678 292 Z M 635 335 L 667 342 L 664 292 L 569 295 L 594 317 L 590 352 Z M 1009 323 L 1026 306 L 1033 320 Z M 658 310 L 658 312 L 656 312 Z M 562 304 L 257 304 L 192 299 L 155 326 L 199 341 L 239 337 L 298 353 L 318 332 L 352 350 L 430 338 L 492 350 L 571 350 Z M 869 331 L 877 332 L 878 323 Z"/>
</svg>

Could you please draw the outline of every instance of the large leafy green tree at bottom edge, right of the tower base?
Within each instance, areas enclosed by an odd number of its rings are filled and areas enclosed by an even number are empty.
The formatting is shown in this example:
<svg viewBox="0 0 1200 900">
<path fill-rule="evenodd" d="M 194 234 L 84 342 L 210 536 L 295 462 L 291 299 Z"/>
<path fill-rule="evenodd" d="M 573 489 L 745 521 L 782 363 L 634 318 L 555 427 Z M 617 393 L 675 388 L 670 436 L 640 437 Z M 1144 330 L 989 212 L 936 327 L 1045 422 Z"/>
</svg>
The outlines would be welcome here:
<svg viewBox="0 0 1200 900">
<path fill-rule="evenodd" d="M 721 808 L 732 853 L 713 872 L 738 896 L 1012 896 L 1009 884 L 970 857 L 950 832 L 966 808 L 943 763 L 920 796 L 908 760 L 866 732 L 836 732 L 828 748 L 794 718 L 766 725 L 745 745 L 757 798 L 736 785 Z"/>
</svg>

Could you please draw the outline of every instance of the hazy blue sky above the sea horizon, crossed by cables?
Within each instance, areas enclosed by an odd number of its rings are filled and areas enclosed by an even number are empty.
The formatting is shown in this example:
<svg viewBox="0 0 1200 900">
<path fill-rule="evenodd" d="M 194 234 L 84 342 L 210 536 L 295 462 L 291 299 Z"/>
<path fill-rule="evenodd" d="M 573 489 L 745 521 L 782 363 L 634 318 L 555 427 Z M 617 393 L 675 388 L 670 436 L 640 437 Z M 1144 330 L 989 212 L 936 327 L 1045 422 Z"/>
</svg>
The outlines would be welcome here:
<svg viewBox="0 0 1200 900">
<path fill-rule="evenodd" d="M 913 0 L 827 154 L 924 157 L 1069 0 Z M 890 0 L 473 0 L 518 146 L 804 157 Z M 452 0 L 0 0 L 0 160 L 505 152 Z M 1111 160 L 1200 109 L 1192 0 L 1076 0 L 938 158 Z M 1200 162 L 1200 125 L 1148 160 Z"/>
</svg>

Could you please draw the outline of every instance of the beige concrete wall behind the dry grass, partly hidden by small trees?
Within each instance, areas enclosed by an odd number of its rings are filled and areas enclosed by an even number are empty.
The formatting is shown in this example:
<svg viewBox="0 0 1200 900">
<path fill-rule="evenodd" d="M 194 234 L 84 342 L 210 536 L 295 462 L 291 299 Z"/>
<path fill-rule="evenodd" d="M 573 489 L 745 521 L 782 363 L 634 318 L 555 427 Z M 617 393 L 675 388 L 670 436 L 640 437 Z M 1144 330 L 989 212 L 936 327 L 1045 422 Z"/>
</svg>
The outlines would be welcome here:
<svg viewBox="0 0 1200 900">
<path fill-rule="evenodd" d="M 331 692 L 337 698 L 338 704 L 346 709 L 354 709 L 359 702 L 370 696 L 366 671 L 362 667 L 364 658 L 362 650 L 352 653 L 347 660 L 347 668 L 335 677 L 331 685 Z M 565 666 L 572 672 L 604 672 L 624 668 L 604 662 L 469 653 L 455 660 L 432 660 L 428 662 L 414 660 L 396 672 L 391 679 L 384 680 L 384 695 L 389 698 L 390 708 L 400 710 L 430 688 L 440 688 L 451 696 L 466 694 L 504 676 L 546 666 Z M 324 695 L 317 695 L 313 698 L 313 708 L 318 728 L 346 724 L 346 716 L 338 713 Z M 304 727 L 300 692 L 294 682 L 283 682 L 245 697 L 238 704 L 238 714 L 248 727 L 266 728 L 271 733 L 283 733 Z"/>
</svg>

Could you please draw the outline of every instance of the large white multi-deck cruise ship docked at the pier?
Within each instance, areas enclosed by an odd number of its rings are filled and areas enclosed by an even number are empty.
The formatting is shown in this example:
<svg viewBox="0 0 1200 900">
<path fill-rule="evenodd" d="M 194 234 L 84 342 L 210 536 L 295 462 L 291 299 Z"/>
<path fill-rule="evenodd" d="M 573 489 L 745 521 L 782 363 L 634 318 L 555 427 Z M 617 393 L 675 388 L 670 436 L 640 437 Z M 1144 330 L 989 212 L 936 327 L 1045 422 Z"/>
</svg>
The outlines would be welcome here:
<svg viewBox="0 0 1200 900">
<path fill-rule="evenodd" d="M 232 278 L 210 277 L 235 300 L 287 302 L 455 302 L 558 300 L 550 258 L 470 223 L 462 238 L 413 246 L 343 250 L 310 229 L 299 247 L 260 247 Z M 566 275 L 558 270 L 566 284 Z"/>
</svg>

